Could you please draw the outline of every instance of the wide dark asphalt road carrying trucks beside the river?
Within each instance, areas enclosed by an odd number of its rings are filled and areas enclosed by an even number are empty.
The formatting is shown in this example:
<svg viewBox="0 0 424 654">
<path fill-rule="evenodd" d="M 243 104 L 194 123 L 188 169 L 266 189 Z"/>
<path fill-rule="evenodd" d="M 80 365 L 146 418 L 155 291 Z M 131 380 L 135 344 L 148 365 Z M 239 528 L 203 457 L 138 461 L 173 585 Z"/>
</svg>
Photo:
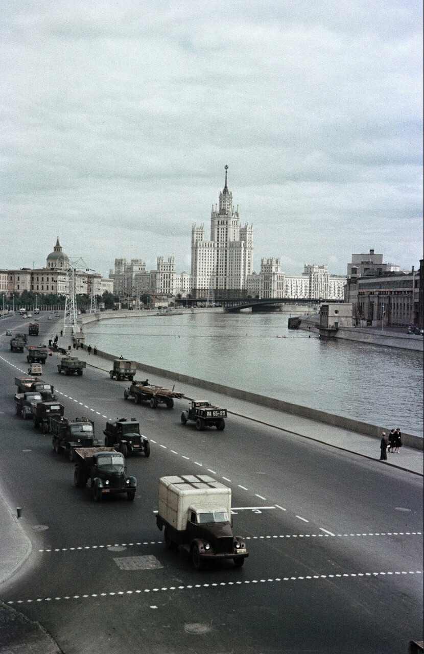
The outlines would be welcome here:
<svg viewBox="0 0 424 654">
<path fill-rule="evenodd" d="M 421 477 L 234 416 L 224 432 L 197 432 L 180 424 L 186 401 L 133 405 L 126 383 L 90 366 L 63 377 L 54 355 L 43 379 L 67 417 L 94 419 L 99 438 L 107 418 L 135 417 L 151 440 L 150 458 L 127 460 L 135 502 L 97 504 L 50 437 L 14 415 L 26 355 L 4 334 L 23 322 L 0 323 L 0 479 L 33 554 L 0 594 L 65 654 L 400 653 L 423 638 Z M 234 533 L 249 549 L 239 570 L 195 572 L 162 542 L 158 479 L 196 473 L 232 489 Z"/>
</svg>

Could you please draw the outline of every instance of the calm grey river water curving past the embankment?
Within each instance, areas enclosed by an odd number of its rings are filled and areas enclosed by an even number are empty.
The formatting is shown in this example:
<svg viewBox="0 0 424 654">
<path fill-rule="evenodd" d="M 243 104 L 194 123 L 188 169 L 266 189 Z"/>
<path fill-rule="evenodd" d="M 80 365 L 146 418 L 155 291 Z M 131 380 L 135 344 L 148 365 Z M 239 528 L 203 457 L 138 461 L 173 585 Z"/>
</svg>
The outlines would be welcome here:
<svg viewBox="0 0 424 654">
<path fill-rule="evenodd" d="M 284 313 L 102 320 L 86 343 L 166 370 L 423 435 L 423 354 L 287 329 Z M 151 380 L 154 383 L 154 380 Z"/>
</svg>

